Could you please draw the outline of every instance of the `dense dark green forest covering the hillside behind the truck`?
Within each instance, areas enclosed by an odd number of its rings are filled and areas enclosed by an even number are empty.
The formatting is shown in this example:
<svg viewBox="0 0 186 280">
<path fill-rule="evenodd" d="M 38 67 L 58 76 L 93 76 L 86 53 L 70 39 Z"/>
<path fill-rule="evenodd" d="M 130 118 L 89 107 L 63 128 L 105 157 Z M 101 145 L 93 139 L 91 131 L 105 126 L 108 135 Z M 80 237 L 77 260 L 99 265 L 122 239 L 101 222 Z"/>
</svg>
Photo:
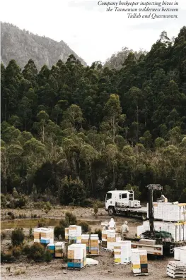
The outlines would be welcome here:
<svg viewBox="0 0 186 280">
<path fill-rule="evenodd" d="M 64 204 L 160 183 L 186 200 L 186 27 L 122 68 L 1 65 L 1 192 Z"/>
</svg>

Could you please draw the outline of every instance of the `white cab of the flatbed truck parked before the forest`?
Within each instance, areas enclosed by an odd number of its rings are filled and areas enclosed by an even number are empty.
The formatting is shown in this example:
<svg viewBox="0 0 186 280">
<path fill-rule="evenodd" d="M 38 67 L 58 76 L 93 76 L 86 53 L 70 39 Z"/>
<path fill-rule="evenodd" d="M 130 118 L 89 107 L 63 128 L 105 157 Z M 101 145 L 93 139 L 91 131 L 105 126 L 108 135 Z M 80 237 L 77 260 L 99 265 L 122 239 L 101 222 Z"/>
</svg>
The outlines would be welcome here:
<svg viewBox="0 0 186 280">
<path fill-rule="evenodd" d="M 115 214 L 117 205 L 129 207 L 129 201 L 134 200 L 133 190 L 111 190 L 106 193 L 105 210 L 110 214 Z"/>
</svg>

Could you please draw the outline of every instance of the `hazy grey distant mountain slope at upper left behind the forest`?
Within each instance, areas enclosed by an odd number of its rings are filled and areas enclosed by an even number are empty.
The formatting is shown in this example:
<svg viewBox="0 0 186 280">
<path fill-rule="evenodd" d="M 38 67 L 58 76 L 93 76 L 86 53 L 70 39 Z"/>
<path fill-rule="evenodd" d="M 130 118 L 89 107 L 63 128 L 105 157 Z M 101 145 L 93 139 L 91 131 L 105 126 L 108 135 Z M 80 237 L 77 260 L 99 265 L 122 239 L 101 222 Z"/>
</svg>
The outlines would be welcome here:
<svg viewBox="0 0 186 280">
<path fill-rule="evenodd" d="M 66 61 L 70 54 L 74 54 L 76 59 L 86 66 L 86 62 L 65 42 L 56 42 L 53 39 L 21 30 L 12 24 L 1 23 L 1 61 L 5 66 L 11 59 L 15 59 L 23 68 L 29 59 L 33 59 L 38 69 L 44 64 L 51 67 L 59 59 Z"/>
</svg>

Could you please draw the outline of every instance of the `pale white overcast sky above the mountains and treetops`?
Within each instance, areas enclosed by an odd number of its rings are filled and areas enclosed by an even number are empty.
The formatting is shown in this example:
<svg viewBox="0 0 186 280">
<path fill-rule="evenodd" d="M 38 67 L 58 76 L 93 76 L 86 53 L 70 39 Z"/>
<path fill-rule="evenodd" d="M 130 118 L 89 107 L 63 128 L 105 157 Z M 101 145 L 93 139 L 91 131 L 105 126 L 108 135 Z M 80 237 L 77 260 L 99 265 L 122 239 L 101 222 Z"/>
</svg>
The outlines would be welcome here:
<svg viewBox="0 0 186 280">
<path fill-rule="evenodd" d="M 168 37 L 177 36 L 186 25 L 186 0 L 177 1 L 178 18 L 163 20 L 127 18 L 126 12 L 107 12 L 95 0 L 1 0 L 0 13 L 2 22 L 63 40 L 90 65 L 104 62 L 122 47 L 148 51 L 163 30 Z"/>
</svg>

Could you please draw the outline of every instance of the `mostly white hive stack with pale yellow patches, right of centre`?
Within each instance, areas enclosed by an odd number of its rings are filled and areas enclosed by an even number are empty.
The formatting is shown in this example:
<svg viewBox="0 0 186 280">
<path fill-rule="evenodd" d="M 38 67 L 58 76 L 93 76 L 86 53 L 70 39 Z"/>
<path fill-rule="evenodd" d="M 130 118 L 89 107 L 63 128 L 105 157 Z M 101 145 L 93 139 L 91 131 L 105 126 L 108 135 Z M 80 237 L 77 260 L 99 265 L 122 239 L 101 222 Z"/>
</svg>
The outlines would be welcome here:
<svg viewBox="0 0 186 280">
<path fill-rule="evenodd" d="M 115 264 L 131 262 L 131 241 L 119 241 L 114 246 Z"/>
</svg>

